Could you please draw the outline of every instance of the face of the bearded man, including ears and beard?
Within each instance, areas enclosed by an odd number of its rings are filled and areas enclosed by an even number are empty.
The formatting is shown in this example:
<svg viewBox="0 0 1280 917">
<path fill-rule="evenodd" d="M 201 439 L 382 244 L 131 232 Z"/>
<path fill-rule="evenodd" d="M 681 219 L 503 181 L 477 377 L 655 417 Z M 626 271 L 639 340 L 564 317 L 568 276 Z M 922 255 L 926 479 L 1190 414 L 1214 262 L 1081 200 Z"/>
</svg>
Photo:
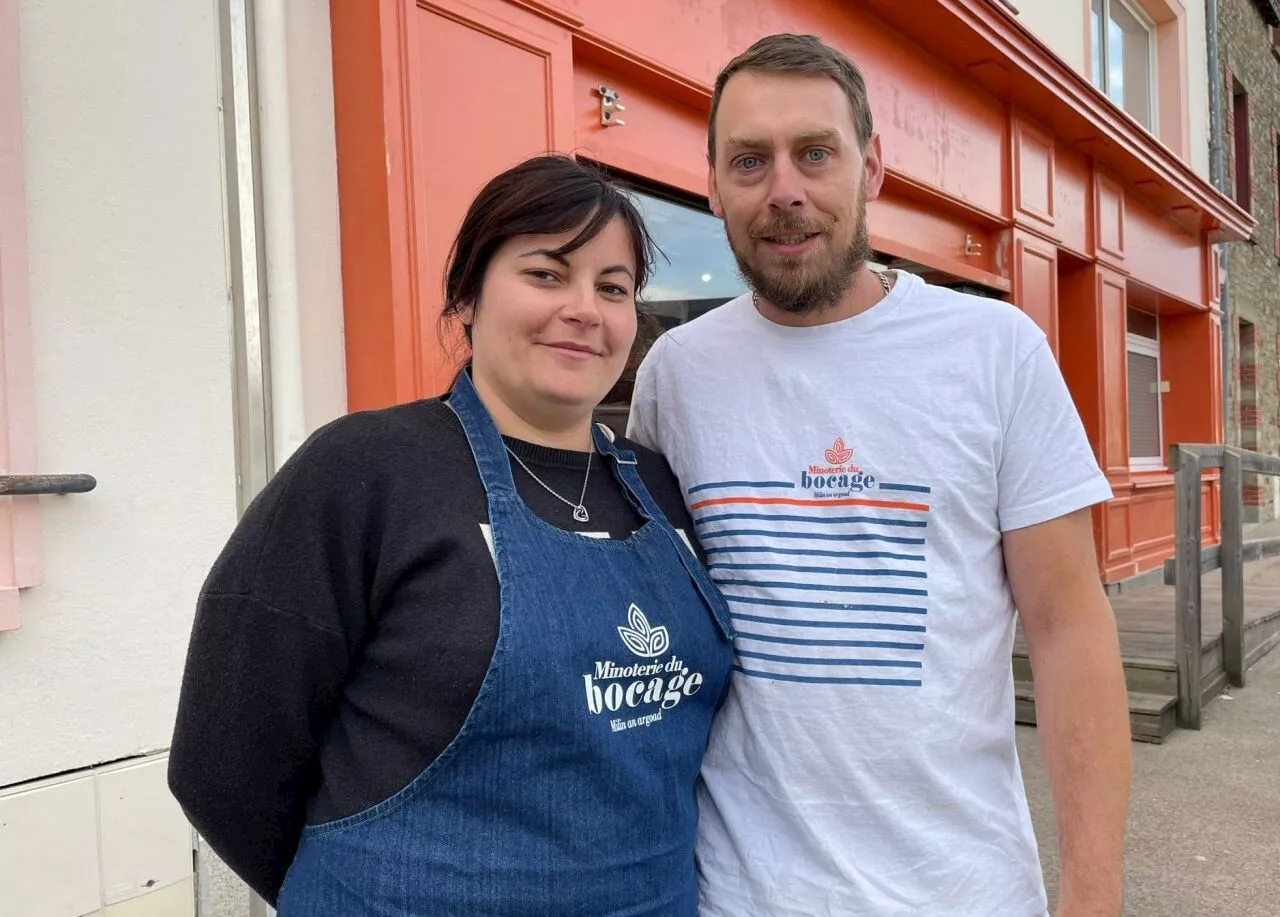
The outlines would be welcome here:
<svg viewBox="0 0 1280 917">
<path fill-rule="evenodd" d="M 879 138 L 864 155 L 836 81 L 748 70 L 724 86 L 712 210 L 746 282 L 778 309 L 840 302 L 870 257 L 867 201 L 882 181 Z"/>
</svg>

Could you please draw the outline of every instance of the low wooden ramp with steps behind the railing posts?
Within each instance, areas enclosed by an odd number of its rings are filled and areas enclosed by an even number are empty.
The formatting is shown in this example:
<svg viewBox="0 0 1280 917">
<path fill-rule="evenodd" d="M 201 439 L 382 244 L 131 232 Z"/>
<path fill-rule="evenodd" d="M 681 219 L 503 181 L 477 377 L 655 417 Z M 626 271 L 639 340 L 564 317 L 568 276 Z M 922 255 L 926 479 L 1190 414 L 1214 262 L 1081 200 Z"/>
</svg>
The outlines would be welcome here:
<svg viewBox="0 0 1280 917">
<path fill-rule="evenodd" d="M 1155 585 L 1112 596 L 1125 683 L 1129 686 L 1129 722 L 1138 742 L 1164 742 L 1174 730 L 1178 701 L 1178 666 L 1174 649 L 1174 587 Z M 1222 665 L 1221 571 L 1204 574 L 1202 602 L 1202 679 L 1204 702 L 1226 686 Z M 1245 669 L 1280 644 L 1280 557 L 1244 566 Z M 1014 680 L 1018 722 L 1034 725 L 1036 697 L 1027 642 L 1021 628 L 1014 644 Z"/>
</svg>

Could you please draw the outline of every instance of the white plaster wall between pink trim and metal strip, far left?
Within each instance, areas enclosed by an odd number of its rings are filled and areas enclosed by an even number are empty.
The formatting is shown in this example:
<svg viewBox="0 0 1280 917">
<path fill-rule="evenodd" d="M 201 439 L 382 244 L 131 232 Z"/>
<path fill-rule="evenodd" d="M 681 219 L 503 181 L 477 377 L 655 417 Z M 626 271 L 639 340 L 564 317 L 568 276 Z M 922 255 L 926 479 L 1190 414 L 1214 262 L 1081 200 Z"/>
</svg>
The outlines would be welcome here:
<svg viewBox="0 0 1280 917">
<path fill-rule="evenodd" d="M 168 747 L 236 514 L 214 0 L 22 0 L 19 40 L 40 469 L 99 487 L 42 498 L 0 786 Z"/>
</svg>

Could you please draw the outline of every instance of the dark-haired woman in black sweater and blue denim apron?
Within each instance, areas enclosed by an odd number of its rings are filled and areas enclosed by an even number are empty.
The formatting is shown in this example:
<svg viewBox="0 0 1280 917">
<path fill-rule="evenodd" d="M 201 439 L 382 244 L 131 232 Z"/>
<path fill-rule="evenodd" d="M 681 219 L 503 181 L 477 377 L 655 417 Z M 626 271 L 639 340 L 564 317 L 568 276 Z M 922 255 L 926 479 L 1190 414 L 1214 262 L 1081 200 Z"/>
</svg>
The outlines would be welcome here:
<svg viewBox="0 0 1280 917">
<path fill-rule="evenodd" d="M 214 566 L 170 786 L 280 917 L 695 914 L 728 613 L 667 464 L 591 423 L 650 251 L 573 160 L 497 177 L 451 394 L 316 433 Z"/>
</svg>

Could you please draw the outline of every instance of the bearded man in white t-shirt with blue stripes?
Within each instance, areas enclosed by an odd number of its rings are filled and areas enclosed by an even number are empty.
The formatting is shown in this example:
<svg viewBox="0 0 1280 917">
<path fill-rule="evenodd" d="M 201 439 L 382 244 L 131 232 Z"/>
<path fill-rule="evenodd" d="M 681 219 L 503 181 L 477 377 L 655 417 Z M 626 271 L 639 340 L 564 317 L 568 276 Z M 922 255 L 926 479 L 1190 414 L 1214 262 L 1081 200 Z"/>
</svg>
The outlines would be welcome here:
<svg viewBox="0 0 1280 917">
<path fill-rule="evenodd" d="M 1015 607 L 1056 913 L 1119 914 L 1129 727 L 1089 511 L 1111 491 L 1044 334 L 868 266 L 881 141 L 819 40 L 728 64 L 709 134 L 754 292 L 659 338 L 630 430 L 680 475 L 739 631 L 703 768 L 704 914 L 1046 914 Z"/>
</svg>

